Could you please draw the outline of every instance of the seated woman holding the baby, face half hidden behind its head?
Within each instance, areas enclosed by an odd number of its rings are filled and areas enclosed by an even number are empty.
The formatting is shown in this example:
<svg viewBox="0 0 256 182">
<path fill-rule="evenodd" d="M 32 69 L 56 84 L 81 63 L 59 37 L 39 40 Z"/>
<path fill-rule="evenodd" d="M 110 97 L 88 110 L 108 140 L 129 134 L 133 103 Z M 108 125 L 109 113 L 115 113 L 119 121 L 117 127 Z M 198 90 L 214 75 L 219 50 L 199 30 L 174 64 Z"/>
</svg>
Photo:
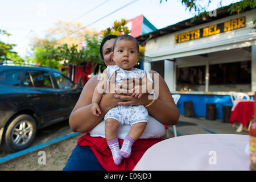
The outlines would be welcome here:
<svg viewBox="0 0 256 182">
<path fill-rule="evenodd" d="M 115 65 L 112 57 L 112 46 L 117 36 L 109 35 L 102 40 L 100 53 L 101 58 L 106 65 Z M 69 125 L 71 130 L 85 134 L 81 137 L 76 148 L 72 151 L 68 163 L 63 170 L 132 170 L 141 156 L 153 144 L 159 142 L 162 132 L 165 131 L 163 125 L 176 125 L 179 120 L 179 110 L 171 96 L 170 90 L 158 73 L 150 71 L 152 80 L 159 78 L 158 98 L 152 102 L 147 94 L 141 98 L 131 97 L 130 94 L 106 93 L 100 102 L 101 115 L 94 116 L 91 113 L 93 91 L 99 81 L 97 76 L 90 78 L 81 92 L 70 117 Z M 114 82 L 114 78 L 112 78 Z M 111 83 L 110 83 L 111 84 Z M 109 86 L 111 88 L 111 86 Z M 118 91 L 123 91 L 119 89 Z M 119 93 L 119 92 L 118 92 Z M 126 93 L 123 91 L 123 93 Z M 142 139 L 138 139 L 132 148 L 133 152 L 130 158 L 125 159 L 119 166 L 115 165 L 108 144 L 104 137 L 104 122 L 101 122 L 108 110 L 117 105 L 149 105 L 148 113 L 152 116 L 149 119 Z M 155 121 L 155 119 L 157 121 Z M 160 122 L 160 123 L 159 123 Z M 129 131 L 130 126 L 120 128 L 118 138 Z M 124 134 L 126 136 L 126 134 Z M 123 140 L 119 140 L 122 146 Z"/>
</svg>

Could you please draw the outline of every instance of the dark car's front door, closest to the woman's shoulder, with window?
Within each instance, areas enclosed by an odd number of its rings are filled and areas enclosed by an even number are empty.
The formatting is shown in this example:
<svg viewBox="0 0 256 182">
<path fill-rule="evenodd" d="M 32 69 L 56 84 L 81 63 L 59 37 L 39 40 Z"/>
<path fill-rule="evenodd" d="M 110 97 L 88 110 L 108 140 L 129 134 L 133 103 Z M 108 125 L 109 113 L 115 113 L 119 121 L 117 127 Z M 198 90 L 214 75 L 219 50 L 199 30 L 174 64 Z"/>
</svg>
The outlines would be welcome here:
<svg viewBox="0 0 256 182">
<path fill-rule="evenodd" d="M 63 114 L 69 117 L 69 114 L 79 99 L 81 89 L 77 89 L 74 82 L 60 72 L 52 72 L 52 77 L 56 81 L 56 94 L 62 106 Z"/>
</svg>

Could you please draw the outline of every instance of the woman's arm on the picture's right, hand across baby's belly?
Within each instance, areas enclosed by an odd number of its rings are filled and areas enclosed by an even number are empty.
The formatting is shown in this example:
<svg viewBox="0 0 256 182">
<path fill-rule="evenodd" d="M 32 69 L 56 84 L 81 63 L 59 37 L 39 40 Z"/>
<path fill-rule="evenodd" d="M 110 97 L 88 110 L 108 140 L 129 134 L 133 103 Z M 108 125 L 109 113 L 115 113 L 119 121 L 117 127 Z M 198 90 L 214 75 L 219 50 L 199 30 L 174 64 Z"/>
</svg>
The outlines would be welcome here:
<svg viewBox="0 0 256 182">
<path fill-rule="evenodd" d="M 164 125 L 176 125 L 179 121 L 180 113 L 166 82 L 157 72 L 149 71 L 149 73 L 151 73 L 152 80 L 154 81 L 154 92 L 157 98 L 147 107 L 148 113 Z M 147 94 L 143 94 L 139 99 L 118 94 L 118 98 L 123 100 L 119 102 L 121 105 L 148 105 L 152 101 L 148 99 Z"/>
</svg>

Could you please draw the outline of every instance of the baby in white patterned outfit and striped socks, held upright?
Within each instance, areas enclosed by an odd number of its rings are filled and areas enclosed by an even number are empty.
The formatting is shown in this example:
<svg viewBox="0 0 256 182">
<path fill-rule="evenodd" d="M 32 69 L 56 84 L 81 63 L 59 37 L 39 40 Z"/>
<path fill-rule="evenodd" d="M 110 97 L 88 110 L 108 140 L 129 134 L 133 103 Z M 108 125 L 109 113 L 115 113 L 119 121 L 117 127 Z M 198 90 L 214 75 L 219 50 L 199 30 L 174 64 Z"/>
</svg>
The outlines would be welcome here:
<svg viewBox="0 0 256 182">
<path fill-rule="evenodd" d="M 142 69 L 133 68 L 139 57 L 139 43 L 130 35 L 119 36 L 113 44 L 113 59 L 116 65 L 109 65 L 102 73 L 101 80 L 96 86 L 92 98 L 92 113 L 100 115 L 101 110 L 98 104 L 104 92 L 107 92 L 110 77 L 115 73 L 115 83 L 130 79 L 140 79 L 142 85 L 135 85 L 131 96 L 140 98 L 143 93 L 151 93 L 147 88 L 152 88 L 152 79 Z M 107 88 L 105 88 L 105 87 Z M 102 89 L 104 92 L 102 92 Z M 140 91 L 141 90 L 141 91 Z M 144 90 L 144 92 L 142 92 Z M 141 137 L 148 122 L 148 112 L 143 105 L 118 105 L 106 113 L 105 117 L 105 137 L 109 148 L 112 151 L 114 163 L 119 165 L 123 158 L 131 155 L 131 146 Z M 118 143 L 118 127 L 121 125 L 131 125 L 131 129 L 120 150 Z"/>
</svg>

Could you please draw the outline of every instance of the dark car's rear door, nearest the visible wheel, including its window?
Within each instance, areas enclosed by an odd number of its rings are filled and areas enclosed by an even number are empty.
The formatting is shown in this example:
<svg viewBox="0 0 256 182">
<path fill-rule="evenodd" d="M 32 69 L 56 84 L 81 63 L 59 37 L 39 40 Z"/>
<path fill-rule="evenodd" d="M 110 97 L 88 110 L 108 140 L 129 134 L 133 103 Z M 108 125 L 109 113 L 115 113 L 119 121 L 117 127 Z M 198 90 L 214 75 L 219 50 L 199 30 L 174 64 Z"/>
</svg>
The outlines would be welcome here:
<svg viewBox="0 0 256 182">
<path fill-rule="evenodd" d="M 57 122 L 63 119 L 58 94 L 54 89 L 52 78 L 48 71 L 26 69 L 23 87 L 26 88 L 27 104 L 37 110 L 42 123 Z"/>
</svg>

